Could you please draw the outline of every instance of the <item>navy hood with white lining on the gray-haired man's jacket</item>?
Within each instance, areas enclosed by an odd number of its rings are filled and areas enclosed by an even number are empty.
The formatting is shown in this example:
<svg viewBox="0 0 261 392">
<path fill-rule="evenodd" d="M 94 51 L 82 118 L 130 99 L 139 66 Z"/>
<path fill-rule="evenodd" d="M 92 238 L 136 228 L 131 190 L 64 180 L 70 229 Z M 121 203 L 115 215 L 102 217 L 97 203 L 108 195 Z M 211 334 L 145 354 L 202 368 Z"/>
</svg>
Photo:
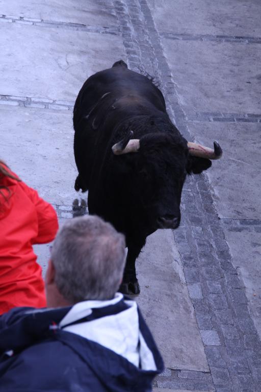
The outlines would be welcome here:
<svg viewBox="0 0 261 392">
<path fill-rule="evenodd" d="M 150 391 L 152 379 L 164 369 L 137 304 L 120 293 L 111 301 L 67 308 L 16 308 L 0 318 L 2 355 L 44 339 L 58 340 L 77 353 L 108 391 Z"/>
</svg>

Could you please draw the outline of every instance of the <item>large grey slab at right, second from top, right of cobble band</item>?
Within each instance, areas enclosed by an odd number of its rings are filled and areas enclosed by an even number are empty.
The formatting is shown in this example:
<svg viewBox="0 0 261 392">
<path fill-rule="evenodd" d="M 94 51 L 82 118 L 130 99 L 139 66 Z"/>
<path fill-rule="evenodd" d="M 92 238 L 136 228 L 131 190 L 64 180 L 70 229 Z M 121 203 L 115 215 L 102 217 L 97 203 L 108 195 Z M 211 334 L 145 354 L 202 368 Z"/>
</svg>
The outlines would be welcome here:
<svg viewBox="0 0 261 392">
<path fill-rule="evenodd" d="M 261 61 L 259 44 L 234 45 L 231 42 L 166 38 L 162 41 L 185 111 L 211 108 L 222 112 L 260 112 L 256 79 L 257 63 Z M 256 64 L 254 70 L 253 64 Z M 214 69 L 219 69 L 218 80 Z M 243 126 L 247 125 L 244 123 Z"/>
</svg>

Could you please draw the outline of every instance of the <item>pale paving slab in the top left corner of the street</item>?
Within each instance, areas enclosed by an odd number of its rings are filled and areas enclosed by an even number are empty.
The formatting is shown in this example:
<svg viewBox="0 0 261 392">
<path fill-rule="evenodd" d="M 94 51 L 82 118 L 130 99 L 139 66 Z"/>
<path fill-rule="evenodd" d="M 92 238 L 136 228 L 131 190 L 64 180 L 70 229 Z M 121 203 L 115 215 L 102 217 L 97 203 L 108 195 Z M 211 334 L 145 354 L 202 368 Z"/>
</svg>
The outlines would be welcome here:
<svg viewBox="0 0 261 392">
<path fill-rule="evenodd" d="M 117 19 L 112 8 L 113 3 L 107 0 L 102 6 L 99 0 L 47 0 L 41 7 L 34 0 L 9 0 L 0 4 L 0 13 L 25 17 L 31 21 L 48 20 L 59 22 L 74 22 L 97 26 L 116 26 Z M 29 17 L 29 18 L 28 18 Z"/>
</svg>

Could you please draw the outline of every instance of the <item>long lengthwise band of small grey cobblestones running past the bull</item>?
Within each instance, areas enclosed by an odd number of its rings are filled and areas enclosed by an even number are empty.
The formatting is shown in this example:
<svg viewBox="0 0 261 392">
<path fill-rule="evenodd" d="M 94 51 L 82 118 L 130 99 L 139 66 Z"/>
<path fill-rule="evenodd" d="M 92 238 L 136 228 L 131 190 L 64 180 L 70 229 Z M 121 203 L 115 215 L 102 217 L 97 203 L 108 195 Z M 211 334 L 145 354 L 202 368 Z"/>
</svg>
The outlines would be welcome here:
<svg viewBox="0 0 261 392">
<path fill-rule="evenodd" d="M 145 65 L 150 75 L 160 76 L 168 112 L 179 131 L 190 139 L 186 116 L 146 0 L 129 0 L 127 3 L 115 0 L 114 5 L 129 67 L 139 71 Z M 242 39 L 250 43 L 251 37 L 230 38 L 236 40 L 235 43 Z M 216 36 L 215 39 L 226 38 Z M 261 40 L 257 38 L 255 41 L 259 43 Z M 253 386 L 252 392 L 259 392 L 257 366 L 260 340 L 249 315 L 245 292 L 231 263 L 223 228 L 212 207 L 210 186 L 205 176 L 188 179 L 182 203 L 182 216 L 186 225 L 174 231 L 174 235 L 184 238 L 177 240 L 177 248 L 187 283 L 191 284 L 191 301 L 201 336 L 205 340 L 205 354 L 211 375 L 208 374 L 206 385 L 205 380 L 188 377 L 180 382 L 175 371 L 169 373 L 170 370 L 166 370 L 168 376 L 158 376 L 154 386 L 239 392 L 243 390 L 244 379 L 247 378 Z M 236 284 L 230 286 L 231 279 Z M 239 296 L 240 301 L 237 300 Z M 246 347 L 246 339 L 251 341 L 251 349 Z"/>
</svg>

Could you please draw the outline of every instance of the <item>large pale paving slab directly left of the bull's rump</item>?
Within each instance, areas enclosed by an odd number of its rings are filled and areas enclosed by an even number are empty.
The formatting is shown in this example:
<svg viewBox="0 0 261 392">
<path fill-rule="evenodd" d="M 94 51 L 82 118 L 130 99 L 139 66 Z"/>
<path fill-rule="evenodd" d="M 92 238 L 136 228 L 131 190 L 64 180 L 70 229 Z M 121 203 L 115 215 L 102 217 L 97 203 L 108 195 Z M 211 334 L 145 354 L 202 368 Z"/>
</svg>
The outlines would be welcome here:
<svg viewBox="0 0 261 392">
<path fill-rule="evenodd" d="M 88 76 L 125 59 L 121 37 L 17 23 L 0 23 L 0 46 L 2 91 L 51 100 L 74 101 Z M 27 69 L 22 78 L 21 68 Z"/>
</svg>

